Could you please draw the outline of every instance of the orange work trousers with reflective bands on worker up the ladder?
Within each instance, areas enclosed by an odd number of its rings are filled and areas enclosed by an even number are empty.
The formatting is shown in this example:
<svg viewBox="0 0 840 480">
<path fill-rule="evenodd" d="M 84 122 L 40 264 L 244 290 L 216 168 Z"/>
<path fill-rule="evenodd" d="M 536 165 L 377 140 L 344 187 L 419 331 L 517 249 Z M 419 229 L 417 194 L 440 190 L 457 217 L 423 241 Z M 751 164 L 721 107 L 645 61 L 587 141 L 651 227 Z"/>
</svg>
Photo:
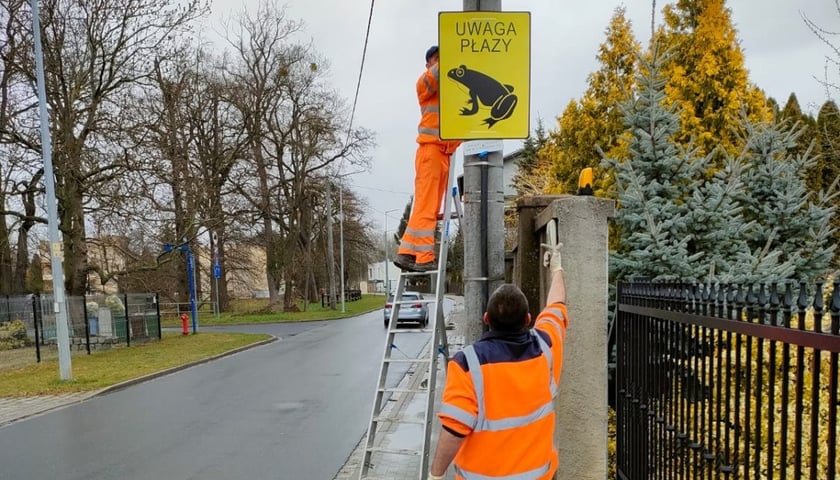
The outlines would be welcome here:
<svg viewBox="0 0 840 480">
<path fill-rule="evenodd" d="M 408 217 L 398 253 L 416 256 L 416 263 L 435 259 L 437 214 L 449 183 L 449 159 L 436 143 L 417 147 L 414 159 L 414 206 Z"/>
</svg>

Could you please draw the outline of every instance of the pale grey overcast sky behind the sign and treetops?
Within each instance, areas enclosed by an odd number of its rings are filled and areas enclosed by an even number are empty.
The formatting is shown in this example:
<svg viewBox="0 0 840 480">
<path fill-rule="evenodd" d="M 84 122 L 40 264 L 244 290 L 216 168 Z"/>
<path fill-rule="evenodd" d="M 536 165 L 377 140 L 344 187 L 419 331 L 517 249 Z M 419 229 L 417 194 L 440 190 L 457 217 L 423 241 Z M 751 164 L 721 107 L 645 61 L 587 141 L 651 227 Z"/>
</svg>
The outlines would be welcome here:
<svg viewBox="0 0 840 480">
<path fill-rule="evenodd" d="M 213 0 L 210 22 L 247 8 L 260 0 Z M 663 0 L 657 2 L 657 24 Z M 807 28 L 801 14 L 834 31 L 840 30 L 835 0 L 729 0 L 732 22 L 746 57 L 750 80 L 784 104 L 796 93 L 805 111 L 816 114 L 826 99 L 818 78 L 825 76 L 830 53 Z M 289 0 L 287 14 L 303 20 L 302 40 L 311 40 L 330 63 L 330 79 L 352 103 L 359 75 L 370 2 L 367 0 Z M 647 45 L 651 2 L 629 0 L 504 0 L 502 9 L 531 12 L 531 126 L 542 118 L 554 128 L 555 117 L 586 89 L 587 75 L 598 68 L 595 56 L 617 6 L 624 5 L 636 38 Z M 388 230 L 398 223 L 409 200 L 414 179 L 414 141 L 419 108 L 414 84 L 424 68 L 423 54 L 437 43 L 437 15 L 461 10 L 461 0 L 380 0 L 370 31 L 355 125 L 376 135 L 370 151 L 372 168 L 348 180 L 363 198 L 367 213 L 378 225 L 384 212 Z M 840 38 L 835 39 L 840 44 Z M 837 69 L 834 68 L 836 73 Z M 835 75 L 836 76 L 836 75 Z M 834 77 L 832 77 L 834 78 Z M 521 101 L 521 100 L 520 100 Z M 506 151 L 520 145 L 506 141 Z M 456 159 L 462 173 L 461 152 Z"/>
</svg>

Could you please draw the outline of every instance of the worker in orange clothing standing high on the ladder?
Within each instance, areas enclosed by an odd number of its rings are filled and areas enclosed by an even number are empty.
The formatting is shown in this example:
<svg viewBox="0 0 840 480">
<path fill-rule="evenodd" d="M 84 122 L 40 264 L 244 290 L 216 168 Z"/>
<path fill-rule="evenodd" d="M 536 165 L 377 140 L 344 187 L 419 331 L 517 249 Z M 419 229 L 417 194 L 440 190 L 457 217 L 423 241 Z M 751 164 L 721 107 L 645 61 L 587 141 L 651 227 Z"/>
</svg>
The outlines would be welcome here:
<svg viewBox="0 0 840 480">
<path fill-rule="evenodd" d="M 401 270 L 428 272 L 437 270 L 435 229 L 446 185 L 450 157 L 460 141 L 440 139 L 440 67 L 438 47 L 426 51 L 426 71 L 417 80 L 420 103 L 420 126 L 417 129 L 417 154 L 414 158 L 414 206 L 394 264 Z"/>
</svg>

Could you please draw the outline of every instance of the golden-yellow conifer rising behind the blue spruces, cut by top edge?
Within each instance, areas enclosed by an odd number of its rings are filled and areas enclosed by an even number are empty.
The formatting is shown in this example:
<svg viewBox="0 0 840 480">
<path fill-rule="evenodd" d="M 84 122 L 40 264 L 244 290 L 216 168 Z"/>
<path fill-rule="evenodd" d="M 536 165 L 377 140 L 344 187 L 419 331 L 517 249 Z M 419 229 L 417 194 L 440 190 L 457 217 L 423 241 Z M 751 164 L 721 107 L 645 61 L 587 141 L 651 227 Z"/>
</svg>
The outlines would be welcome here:
<svg viewBox="0 0 840 480">
<path fill-rule="evenodd" d="M 680 143 L 694 138 L 702 154 L 740 150 L 732 127 L 742 112 L 766 121 L 764 93 L 751 84 L 725 0 L 678 0 L 664 8 L 658 41 L 672 50 L 662 73 L 670 101 L 681 107 Z"/>
</svg>

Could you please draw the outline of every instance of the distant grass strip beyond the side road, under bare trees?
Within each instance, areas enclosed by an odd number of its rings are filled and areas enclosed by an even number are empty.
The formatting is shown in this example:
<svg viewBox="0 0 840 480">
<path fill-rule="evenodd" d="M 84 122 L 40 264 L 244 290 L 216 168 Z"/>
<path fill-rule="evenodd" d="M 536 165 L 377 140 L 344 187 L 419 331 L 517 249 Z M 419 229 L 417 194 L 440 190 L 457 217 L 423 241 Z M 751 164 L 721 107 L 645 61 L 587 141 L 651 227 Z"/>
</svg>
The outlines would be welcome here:
<svg viewBox="0 0 840 480">
<path fill-rule="evenodd" d="M 219 315 L 219 318 L 216 318 L 210 312 L 199 312 L 198 323 L 199 325 L 241 325 L 336 320 L 379 310 L 385 306 L 385 297 L 383 295 L 362 295 L 361 300 L 344 302 L 344 312 L 341 311 L 341 303 L 336 305 L 335 310 L 331 310 L 329 306 L 322 307 L 320 303 L 310 303 L 305 312 L 259 312 L 267 306 L 268 300 L 248 300 L 246 304 L 234 304 L 232 313 L 223 313 Z M 303 309 L 302 304 L 298 307 L 301 310 Z M 180 327 L 181 320 L 177 318 L 177 315 L 161 312 L 161 324 L 164 327 Z"/>
</svg>

